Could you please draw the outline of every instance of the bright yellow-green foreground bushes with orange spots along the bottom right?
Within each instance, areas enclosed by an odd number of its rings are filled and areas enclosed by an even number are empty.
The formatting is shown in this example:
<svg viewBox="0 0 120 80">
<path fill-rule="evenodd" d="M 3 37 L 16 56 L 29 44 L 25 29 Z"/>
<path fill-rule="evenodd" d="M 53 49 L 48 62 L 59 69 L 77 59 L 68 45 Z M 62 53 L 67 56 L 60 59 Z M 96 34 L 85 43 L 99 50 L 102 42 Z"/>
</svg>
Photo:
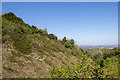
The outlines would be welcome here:
<svg viewBox="0 0 120 80">
<path fill-rule="evenodd" d="M 118 59 L 107 58 L 104 67 L 96 64 L 92 59 L 82 56 L 81 61 L 73 67 L 55 67 L 51 69 L 52 78 L 118 78 Z"/>
</svg>

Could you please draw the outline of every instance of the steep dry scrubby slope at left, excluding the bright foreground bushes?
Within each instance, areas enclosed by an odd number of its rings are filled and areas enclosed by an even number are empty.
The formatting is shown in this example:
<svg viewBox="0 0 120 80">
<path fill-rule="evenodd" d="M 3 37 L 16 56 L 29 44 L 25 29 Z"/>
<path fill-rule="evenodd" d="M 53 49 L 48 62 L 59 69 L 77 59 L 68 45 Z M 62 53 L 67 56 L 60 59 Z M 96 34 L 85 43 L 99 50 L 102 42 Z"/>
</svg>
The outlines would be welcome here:
<svg viewBox="0 0 120 80">
<path fill-rule="evenodd" d="M 29 26 L 12 12 L 2 15 L 2 32 L 3 78 L 50 77 L 49 68 L 80 60 L 46 30 Z"/>
</svg>

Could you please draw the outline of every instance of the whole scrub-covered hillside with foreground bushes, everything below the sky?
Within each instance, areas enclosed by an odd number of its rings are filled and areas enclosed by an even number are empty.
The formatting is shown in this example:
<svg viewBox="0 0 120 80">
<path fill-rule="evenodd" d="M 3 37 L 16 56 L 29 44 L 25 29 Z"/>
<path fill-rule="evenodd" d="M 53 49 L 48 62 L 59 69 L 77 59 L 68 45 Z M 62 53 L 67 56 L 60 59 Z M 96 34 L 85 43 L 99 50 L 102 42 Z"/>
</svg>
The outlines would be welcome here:
<svg viewBox="0 0 120 80">
<path fill-rule="evenodd" d="M 3 78 L 118 78 L 118 49 L 81 49 L 12 12 L 2 15 L 2 37 Z"/>
</svg>

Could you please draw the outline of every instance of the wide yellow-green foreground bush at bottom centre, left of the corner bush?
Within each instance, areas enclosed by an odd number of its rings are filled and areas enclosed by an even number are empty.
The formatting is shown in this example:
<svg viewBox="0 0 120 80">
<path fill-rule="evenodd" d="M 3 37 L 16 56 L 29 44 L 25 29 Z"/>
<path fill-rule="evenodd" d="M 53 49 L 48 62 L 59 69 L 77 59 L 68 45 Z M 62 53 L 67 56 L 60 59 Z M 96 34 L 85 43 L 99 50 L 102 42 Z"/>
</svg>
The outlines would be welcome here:
<svg viewBox="0 0 120 80">
<path fill-rule="evenodd" d="M 89 64 L 88 64 L 89 63 Z M 98 72 L 99 66 L 95 67 L 91 59 L 83 56 L 77 65 L 71 67 L 57 67 L 51 70 L 52 78 L 99 78 L 101 74 Z M 96 72 L 97 71 L 97 72 Z"/>
</svg>

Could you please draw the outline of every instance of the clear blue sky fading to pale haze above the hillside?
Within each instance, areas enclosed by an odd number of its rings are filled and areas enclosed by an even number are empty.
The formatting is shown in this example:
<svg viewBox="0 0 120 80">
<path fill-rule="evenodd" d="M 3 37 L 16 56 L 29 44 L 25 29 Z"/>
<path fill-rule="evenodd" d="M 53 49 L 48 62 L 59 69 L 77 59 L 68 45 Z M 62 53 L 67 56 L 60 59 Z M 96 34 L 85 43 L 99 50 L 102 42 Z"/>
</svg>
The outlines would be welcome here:
<svg viewBox="0 0 120 80">
<path fill-rule="evenodd" d="M 3 2 L 2 12 L 77 45 L 118 44 L 117 2 Z"/>
</svg>

